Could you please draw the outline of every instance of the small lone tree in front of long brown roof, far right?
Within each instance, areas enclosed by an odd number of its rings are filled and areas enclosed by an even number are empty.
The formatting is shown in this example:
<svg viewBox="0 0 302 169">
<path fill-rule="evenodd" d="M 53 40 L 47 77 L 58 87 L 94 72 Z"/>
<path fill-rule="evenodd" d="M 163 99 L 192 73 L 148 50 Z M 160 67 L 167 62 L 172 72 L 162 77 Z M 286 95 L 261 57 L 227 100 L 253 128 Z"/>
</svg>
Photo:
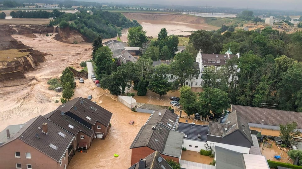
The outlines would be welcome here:
<svg viewBox="0 0 302 169">
<path fill-rule="evenodd" d="M 290 146 L 290 142 L 292 141 L 293 137 L 299 136 L 301 133 L 297 130 L 297 123 L 287 123 L 286 125 L 279 125 L 280 128 L 280 137 L 284 144 Z"/>
</svg>

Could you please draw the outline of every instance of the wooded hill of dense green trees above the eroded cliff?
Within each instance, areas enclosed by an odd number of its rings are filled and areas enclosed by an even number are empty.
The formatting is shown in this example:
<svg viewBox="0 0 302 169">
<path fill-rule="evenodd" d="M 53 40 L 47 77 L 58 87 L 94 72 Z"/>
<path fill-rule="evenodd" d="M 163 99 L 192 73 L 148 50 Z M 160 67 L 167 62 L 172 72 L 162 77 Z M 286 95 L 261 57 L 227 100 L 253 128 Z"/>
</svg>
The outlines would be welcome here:
<svg viewBox="0 0 302 169">
<path fill-rule="evenodd" d="M 92 10 L 92 14 L 82 9 L 80 13 L 65 13 L 60 17 L 50 21 L 50 25 L 56 25 L 66 21 L 71 23 L 71 29 L 78 30 L 90 41 L 93 41 L 99 35 L 102 38 L 116 37 L 120 29 L 140 26 L 136 20 L 130 21 L 121 13 Z"/>
</svg>

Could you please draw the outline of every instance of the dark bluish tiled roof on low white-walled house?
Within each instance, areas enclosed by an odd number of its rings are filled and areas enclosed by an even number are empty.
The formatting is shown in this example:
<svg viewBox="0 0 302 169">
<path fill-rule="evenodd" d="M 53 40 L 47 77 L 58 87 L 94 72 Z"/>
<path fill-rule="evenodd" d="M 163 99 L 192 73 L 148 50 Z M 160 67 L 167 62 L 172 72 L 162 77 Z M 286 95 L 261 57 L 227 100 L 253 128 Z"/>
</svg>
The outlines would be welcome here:
<svg viewBox="0 0 302 169">
<path fill-rule="evenodd" d="M 179 122 L 177 131 L 185 133 L 185 139 L 207 141 L 208 129 L 209 127 L 204 125 L 193 126 L 190 123 Z M 198 138 L 199 135 L 200 138 Z"/>
</svg>

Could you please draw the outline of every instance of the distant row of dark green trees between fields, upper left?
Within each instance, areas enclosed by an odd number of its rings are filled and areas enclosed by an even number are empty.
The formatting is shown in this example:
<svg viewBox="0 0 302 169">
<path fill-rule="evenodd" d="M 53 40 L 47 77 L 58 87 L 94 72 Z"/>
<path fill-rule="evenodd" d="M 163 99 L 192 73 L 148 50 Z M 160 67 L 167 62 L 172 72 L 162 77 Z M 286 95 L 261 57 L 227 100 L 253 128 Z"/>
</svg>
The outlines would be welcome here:
<svg viewBox="0 0 302 169">
<path fill-rule="evenodd" d="M 54 9 L 53 12 L 47 11 L 12 11 L 9 15 L 12 18 L 51 18 L 51 17 L 59 17 L 63 15 L 65 12 L 60 12 L 58 9 Z"/>
</svg>

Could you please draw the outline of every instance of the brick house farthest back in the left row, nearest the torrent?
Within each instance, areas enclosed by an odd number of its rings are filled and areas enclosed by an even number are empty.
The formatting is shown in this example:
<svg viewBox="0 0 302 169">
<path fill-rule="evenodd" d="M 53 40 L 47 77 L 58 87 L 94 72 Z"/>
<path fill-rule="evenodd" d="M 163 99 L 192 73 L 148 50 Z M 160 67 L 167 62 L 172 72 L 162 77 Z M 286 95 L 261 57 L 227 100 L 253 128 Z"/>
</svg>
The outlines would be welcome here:
<svg viewBox="0 0 302 169">
<path fill-rule="evenodd" d="M 112 113 L 89 99 L 75 98 L 60 105 L 57 110 L 93 130 L 93 138 L 104 139 L 110 128 Z"/>
</svg>

